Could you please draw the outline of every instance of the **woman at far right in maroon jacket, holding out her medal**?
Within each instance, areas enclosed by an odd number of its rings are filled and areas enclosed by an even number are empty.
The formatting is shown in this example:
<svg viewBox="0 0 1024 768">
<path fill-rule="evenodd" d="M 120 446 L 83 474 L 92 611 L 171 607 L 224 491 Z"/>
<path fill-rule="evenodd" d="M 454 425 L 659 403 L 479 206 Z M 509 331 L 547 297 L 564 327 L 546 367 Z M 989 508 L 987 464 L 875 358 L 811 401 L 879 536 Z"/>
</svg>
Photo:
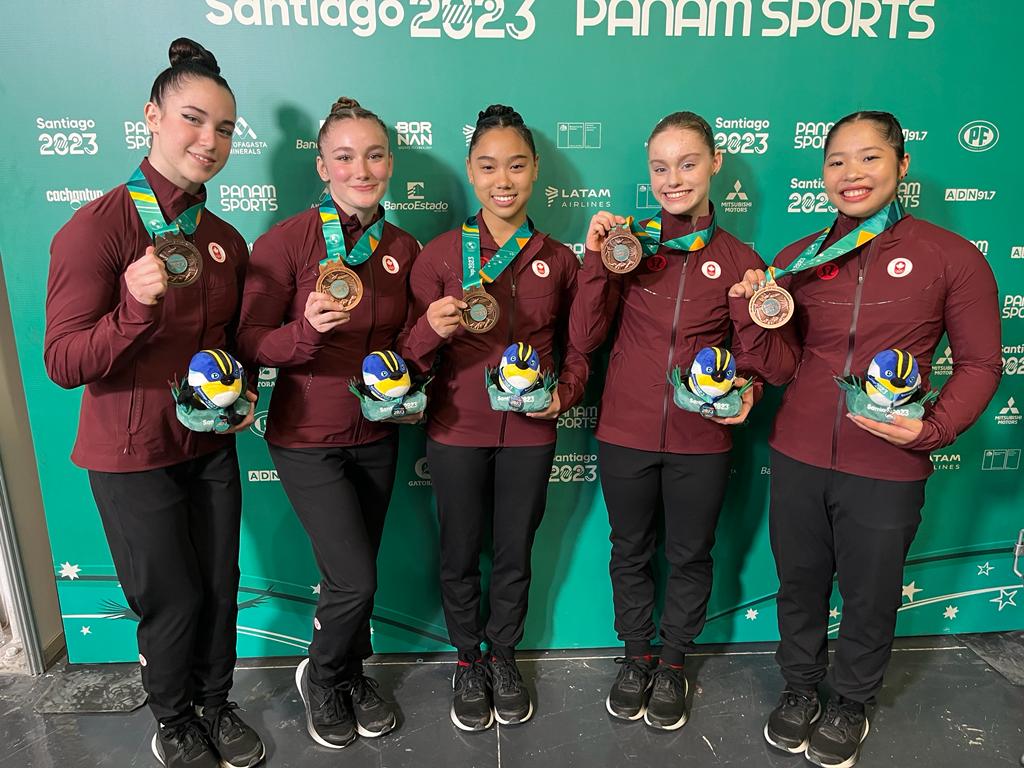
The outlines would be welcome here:
<svg viewBox="0 0 1024 768">
<path fill-rule="evenodd" d="M 776 659 L 786 687 L 764 728 L 773 746 L 848 768 L 867 735 L 865 705 L 889 663 L 903 562 L 921 522 L 929 452 L 950 444 L 988 404 L 999 381 L 995 280 L 968 241 L 906 215 L 897 200 L 910 158 L 899 122 L 858 112 L 825 139 L 822 178 L 839 213 L 776 256 L 796 303 L 780 333 L 793 378 L 771 435 L 772 552 L 780 588 Z M 823 259 L 823 260 L 822 260 Z M 807 268 L 795 270 L 794 264 Z M 733 286 L 750 298 L 751 272 Z M 873 421 L 847 412 L 834 375 L 863 377 L 885 350 L 909 352 L 923 389 L 948 334 L 953 374 L 922 419 Z M 843 622 L 822 715 L 817 686 L 829 669 L 834 577 Z"/>
</svg>

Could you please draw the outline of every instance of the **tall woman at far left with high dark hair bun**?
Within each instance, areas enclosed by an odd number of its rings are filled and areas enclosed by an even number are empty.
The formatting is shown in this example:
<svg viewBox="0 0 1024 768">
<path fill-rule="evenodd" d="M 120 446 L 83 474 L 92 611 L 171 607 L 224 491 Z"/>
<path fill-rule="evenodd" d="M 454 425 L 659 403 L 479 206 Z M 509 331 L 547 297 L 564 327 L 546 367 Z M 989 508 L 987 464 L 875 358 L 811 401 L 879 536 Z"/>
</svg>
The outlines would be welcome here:
<svg viewBox="0 0 1024 768">
<path fill-rule="evenodd" d="M 53 239 L 43 354 L 53 381 L 85 387 L 72 461 L 89 471 L 138 617 L 154 755 L 172 767 L 249 768 L 263 743 L 227 696 L 242 514 L 233 433 L 254 409 L 226 433 L 190 431 L 167 386 L 199 349 L 236 343 L 249 252 L 205 208 L 205 184 L 231 151 L 234 96 L 198 43 L 175 40 L 169 58 L 145 104 L 148 157 Z"/>
</svg>

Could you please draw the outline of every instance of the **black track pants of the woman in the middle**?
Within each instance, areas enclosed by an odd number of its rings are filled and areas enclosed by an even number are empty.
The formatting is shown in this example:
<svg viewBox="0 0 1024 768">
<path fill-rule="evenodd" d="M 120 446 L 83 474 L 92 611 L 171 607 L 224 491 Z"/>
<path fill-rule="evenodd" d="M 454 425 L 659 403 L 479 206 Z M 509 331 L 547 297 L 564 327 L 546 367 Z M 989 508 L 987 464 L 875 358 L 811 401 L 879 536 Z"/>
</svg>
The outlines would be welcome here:
<svg viewBox="0 0 1024 768">
<path fill-rule="evenodd" d="M 427 440 L 440 520 L 441 601 L 460 652 L 487 641 L 510 653 L 522 640 L 530 551 L 544 516 L 555 445 L 458 447 Z M 480 552 L 493 523 L 490 614 L 480 614 Z"/>
</svg>

